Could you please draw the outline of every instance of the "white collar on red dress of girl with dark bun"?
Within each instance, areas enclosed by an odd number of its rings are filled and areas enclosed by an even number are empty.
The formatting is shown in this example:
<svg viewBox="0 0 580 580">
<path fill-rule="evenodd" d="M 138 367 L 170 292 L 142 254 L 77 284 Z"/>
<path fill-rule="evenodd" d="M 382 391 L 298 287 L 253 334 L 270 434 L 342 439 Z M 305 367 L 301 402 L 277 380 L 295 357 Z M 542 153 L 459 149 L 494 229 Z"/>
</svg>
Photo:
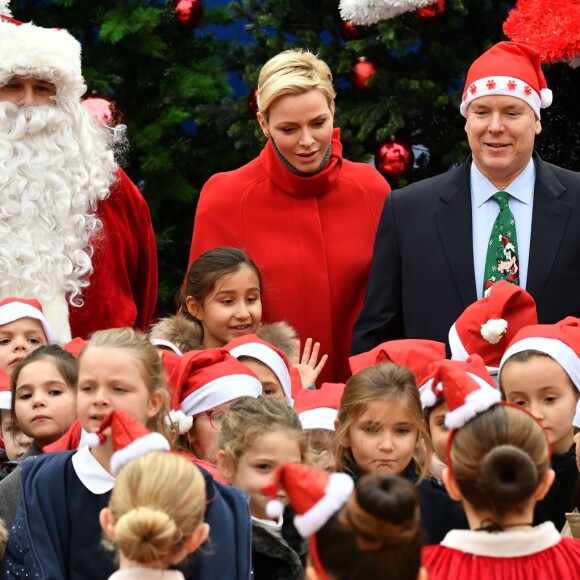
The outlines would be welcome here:
<svg viewBox="0 0 580 580">
<path fill-rule="evenodd" d="M 442 546 L 453 548 L 474 556 L 492 558 L 520 558 L 552 548 L 561 536 L 552 522 L 544 522 L 531 531 L 507 531 L 498 533 L 473 530 L 451 530 Z"/>
</svg>

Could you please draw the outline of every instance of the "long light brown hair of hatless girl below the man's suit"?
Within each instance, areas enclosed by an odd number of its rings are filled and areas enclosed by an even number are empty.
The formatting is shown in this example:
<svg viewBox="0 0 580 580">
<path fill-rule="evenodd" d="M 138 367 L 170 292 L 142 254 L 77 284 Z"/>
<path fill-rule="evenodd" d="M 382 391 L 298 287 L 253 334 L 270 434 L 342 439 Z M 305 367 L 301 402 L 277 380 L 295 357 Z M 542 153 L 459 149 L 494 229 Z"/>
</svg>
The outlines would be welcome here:
<svg viewBox="0 0 580 580">
<path fill-rule="evenodd" d="M 377 401 L 402 403 L 411 412 L 418 431 L 413 459 L 417 465 L 419 480 L 424 479 L 429 470 L 433 445 L 423 419 L 417 381 L 409 369 L 390 362 L 362 369 L 346 382 L 337 417 L 336 437 L 339 441 L 336 451 L 337 469 L 355 475 L 360 474 L 352 450 L 350 447 L 340 445 L 340 441 L 344 440 L 352 424 L 367 407 Z"/>
</svg>

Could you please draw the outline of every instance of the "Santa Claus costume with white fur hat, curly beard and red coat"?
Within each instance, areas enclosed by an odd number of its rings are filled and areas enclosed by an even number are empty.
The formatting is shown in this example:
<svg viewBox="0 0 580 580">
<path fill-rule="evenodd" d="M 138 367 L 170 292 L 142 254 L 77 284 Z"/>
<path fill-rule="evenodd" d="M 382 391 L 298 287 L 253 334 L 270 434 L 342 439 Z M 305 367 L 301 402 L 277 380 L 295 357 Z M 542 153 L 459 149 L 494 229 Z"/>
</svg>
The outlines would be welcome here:
<svg viewBox="0 0 580 580">
<path fill-rule="evenodd" d="M 124 128 L 81 107 L 81 45 L 66 30 L 0 15 L 0 87 L 15 77 L 56 93 L 48 105 L 0 99 L 0 298 L 40 300 L 60 342 L 145 330 L 157 255 L 147 204 L 115 163 Z"/>
</svg>

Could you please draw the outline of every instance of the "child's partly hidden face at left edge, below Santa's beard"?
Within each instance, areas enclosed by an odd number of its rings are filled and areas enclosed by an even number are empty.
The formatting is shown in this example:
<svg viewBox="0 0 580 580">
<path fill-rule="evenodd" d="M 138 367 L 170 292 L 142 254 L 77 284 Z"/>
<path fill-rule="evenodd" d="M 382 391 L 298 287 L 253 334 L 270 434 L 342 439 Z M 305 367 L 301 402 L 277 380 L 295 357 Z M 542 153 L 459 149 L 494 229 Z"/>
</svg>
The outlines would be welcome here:
<svg viewBox="0 0 580 580">
<path fill-rule="evenodd" d="M 3 324 L 0 326 L 0 368 L 12 375 L 20 359 L 47 342 L 40 320 L 19 318 Z"/>
</svg>

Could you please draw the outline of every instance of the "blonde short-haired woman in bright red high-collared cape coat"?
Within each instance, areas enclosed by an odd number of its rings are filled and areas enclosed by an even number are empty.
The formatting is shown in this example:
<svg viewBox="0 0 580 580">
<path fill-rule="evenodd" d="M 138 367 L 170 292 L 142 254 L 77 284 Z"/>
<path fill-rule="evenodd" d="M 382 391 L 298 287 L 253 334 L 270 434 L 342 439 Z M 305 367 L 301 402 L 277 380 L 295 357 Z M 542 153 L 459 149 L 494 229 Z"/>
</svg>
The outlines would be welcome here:
<svg viewBox="0 0 580 580">
<path fill-rule="evenodd" d="M 310 52 L 287 50 L 263 66 L 266 145 L 205 184 L 190 255 L 191 263 L 216 246 L 244 249 L 267 281 L 262 319 L 287 320 L 320 342 L 329 355 L 323 382 L 350 376 L 350 337 L 390 191 L 370 165 L 343 159 L 335 95 L 330 69 Z"/>
</svg>

